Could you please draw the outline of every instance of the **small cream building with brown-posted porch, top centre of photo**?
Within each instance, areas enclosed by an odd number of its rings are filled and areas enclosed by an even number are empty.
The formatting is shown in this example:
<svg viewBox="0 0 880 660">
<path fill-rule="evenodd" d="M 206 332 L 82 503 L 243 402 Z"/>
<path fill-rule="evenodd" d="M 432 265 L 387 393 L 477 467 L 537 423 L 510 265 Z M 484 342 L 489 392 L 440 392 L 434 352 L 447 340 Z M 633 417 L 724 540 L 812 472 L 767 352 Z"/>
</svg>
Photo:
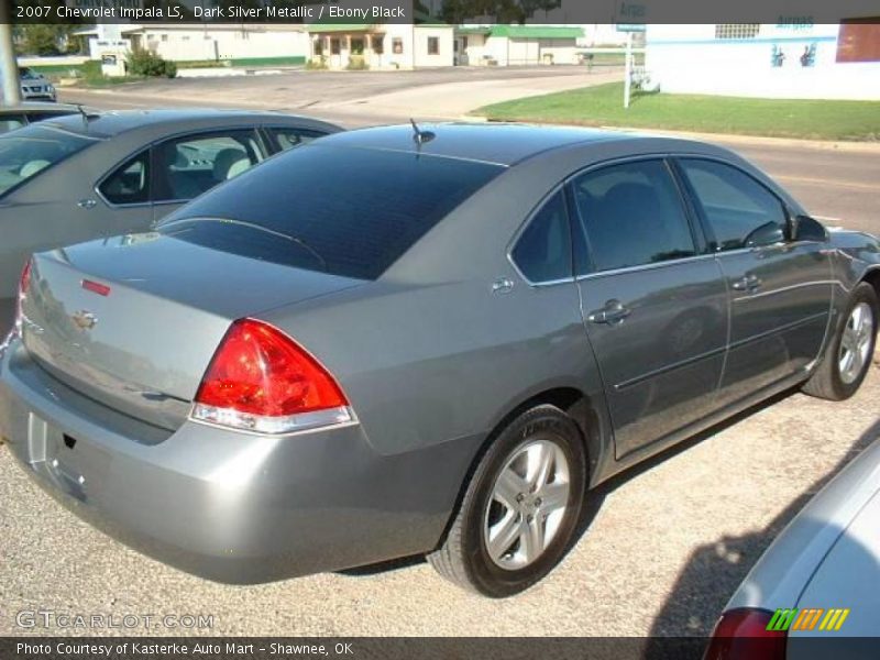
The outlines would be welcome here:
<svg viewBox="0 0 880 660">
<path fill-rule="evenodd" d="M 309 57 L 331 69 L 415 69 L 453 65 L 451 25 L 314 23 Z"/>
</svg>

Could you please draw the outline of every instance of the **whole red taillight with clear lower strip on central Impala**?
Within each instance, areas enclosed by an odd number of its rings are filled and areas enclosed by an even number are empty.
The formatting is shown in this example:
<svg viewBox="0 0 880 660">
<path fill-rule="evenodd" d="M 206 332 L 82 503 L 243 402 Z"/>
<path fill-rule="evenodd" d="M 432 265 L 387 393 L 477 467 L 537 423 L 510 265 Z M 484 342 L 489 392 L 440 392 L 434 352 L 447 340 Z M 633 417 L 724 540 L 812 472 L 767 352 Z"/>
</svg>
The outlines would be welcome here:
<svg viewBox="0 0 880 660">
<path fill-rule="evenodd" d="M 254 319 L 232 323 L 220 342 L 193 418 L 257 433 L 353 420 L 333 376 L 284 332 Z"/>
</svg>

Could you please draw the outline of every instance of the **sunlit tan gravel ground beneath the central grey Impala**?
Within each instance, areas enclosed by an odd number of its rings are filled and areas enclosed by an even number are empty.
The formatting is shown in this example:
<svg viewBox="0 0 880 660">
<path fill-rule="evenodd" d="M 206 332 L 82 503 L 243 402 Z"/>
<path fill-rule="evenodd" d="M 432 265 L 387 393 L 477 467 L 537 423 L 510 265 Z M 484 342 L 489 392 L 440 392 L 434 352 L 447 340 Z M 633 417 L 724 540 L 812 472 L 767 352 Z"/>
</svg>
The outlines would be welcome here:
<svg viewBox="0 0 880 660">
<path fill-rule="evenodd" d="M 875 365 L 846 403 L 778 397 L 618 477 L 594 496 L 595 518 L 562 565 L 507 601 L 459 591 L 418 560 L 262 586 L 205 582 L 80 522 L 3 448 L 0 636 L 86 632 L 16 627 L 15 613 L 33 609 L 213 615 L 212 629 L 187 631 L 205 635 L 705 635 L 782 526 L 880 435 L 879 394 Z"/>
</svg>

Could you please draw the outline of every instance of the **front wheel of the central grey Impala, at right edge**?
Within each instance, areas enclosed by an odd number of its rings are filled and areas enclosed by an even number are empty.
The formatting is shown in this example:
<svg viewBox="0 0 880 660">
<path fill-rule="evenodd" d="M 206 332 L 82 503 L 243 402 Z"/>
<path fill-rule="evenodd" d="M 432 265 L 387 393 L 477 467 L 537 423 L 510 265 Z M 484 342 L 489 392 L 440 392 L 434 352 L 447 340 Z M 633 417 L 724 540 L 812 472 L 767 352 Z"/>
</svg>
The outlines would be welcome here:
<svg viewBox="0 0 880 660">
<path fill-rule="evenodd" d="M 876 341 L 877 293 L 862 282 L 853 289 L 844 318 L 803 391 L 832 402 L 856 394 L 871 366 Z"/>
</svg>

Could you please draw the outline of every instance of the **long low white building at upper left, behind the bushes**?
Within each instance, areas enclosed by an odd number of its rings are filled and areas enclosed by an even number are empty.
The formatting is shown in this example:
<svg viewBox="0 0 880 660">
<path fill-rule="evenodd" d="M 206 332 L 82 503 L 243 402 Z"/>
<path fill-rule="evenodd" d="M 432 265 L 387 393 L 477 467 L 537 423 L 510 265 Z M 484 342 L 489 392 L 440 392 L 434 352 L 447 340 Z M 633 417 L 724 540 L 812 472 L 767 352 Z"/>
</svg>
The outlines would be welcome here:
<svg viewBox="0 0 880 660">
<path fill-rule="evenodd" d="M 152 23 L 98 25 L 78 34 L 89 37 L 89 56 L 145 48 L 175 62 L 229 61 L 237 66 L 304 64 L 309 37 L 302 25 L 270 23 Z"/>
</svg>

